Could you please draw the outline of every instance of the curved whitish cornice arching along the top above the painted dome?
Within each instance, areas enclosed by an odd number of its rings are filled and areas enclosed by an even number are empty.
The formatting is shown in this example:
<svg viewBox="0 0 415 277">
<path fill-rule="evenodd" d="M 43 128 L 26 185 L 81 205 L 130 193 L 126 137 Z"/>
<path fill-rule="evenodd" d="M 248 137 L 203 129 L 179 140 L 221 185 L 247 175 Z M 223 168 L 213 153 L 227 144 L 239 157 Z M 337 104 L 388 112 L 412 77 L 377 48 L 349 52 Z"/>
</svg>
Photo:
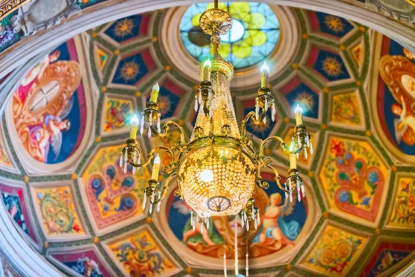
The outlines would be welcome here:
<svg viewBox="0 0 415 277">
<path fill-rule="evenodd" d="M 0 78 L 26 62 L 28 58 L 37 55 L 46 48 L 53 47 L 66 41 L 77 33 L 84 32 L 118 18 L 135 15 L 160 8 L 185 6 L 192 3 L 202 3 L 205 0 L 109 0 L 69 18 L 59 26 L 46 30 L 44 33 L 27 37 L 0 57 Z M 415 42 L 415 30 L 389 19 L 378 12 L 366 10 L 349 3 L 337 0 L 265 0 L 269 4 L 318 10 L 337 15 L 364 24 L 378 32 L 395 39 L 405 45 Z M 413 50 L 413 49 L 412 49 Z"/>
</svg>

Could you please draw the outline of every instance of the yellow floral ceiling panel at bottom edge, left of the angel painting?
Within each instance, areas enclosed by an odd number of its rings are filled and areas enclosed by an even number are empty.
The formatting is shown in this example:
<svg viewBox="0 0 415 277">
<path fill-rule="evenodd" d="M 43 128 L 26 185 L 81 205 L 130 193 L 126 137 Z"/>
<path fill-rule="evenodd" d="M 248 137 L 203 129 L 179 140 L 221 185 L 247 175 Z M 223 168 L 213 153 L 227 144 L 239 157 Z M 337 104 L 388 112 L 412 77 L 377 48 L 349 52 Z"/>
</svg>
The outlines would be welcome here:
<svg viewBox="0 0 415 277">
<path fill-rule="evenodd" d="M 140 231 L 109 248 L 129 276 L 159 276 L 176 268 L 149 231 Z"/>
</svg>

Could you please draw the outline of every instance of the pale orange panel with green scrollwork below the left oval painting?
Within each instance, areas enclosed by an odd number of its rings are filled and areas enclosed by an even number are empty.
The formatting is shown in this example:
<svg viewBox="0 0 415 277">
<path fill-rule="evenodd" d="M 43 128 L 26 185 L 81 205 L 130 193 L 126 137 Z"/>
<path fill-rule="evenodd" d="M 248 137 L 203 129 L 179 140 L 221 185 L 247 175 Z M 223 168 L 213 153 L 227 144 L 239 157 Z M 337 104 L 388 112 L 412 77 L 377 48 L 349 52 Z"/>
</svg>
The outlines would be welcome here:
<svg viewBox="0 0 415 277">
<path fill-rule="evenodd" d="M 70 186 L 59 188 L 35 188 L 39 217 L 48 235 L 84 234 L 77 215 Z"/>
</svg>

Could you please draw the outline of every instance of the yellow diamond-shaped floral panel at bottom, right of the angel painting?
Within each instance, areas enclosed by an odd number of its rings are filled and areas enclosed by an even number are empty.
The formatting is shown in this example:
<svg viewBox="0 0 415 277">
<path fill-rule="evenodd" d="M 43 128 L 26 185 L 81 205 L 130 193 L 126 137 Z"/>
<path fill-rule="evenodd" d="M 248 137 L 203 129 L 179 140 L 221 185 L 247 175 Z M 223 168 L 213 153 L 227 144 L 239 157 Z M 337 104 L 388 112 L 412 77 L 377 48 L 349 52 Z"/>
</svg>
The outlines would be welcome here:
<svg viewBox="0 0 415 277">
<path fill-rule="evenodd" d="M 366 240 L 328 225 L 302 265 L 329 276 L 344 276 L 360 256 Z"/>
</svg>

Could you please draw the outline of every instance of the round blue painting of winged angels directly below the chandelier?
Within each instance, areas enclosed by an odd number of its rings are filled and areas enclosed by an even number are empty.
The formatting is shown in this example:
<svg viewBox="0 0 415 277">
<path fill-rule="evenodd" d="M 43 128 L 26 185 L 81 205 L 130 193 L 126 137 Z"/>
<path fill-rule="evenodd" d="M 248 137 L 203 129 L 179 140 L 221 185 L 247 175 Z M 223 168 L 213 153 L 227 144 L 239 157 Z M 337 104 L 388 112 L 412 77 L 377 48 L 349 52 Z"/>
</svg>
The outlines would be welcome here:
<svg viewBox="0 0 415 277">
<path fill-rule="evenodd" d="M 244 257 L 247 242 L 252 258 L 267 256 L 288 245 L 295 245 L 306 221 L 305 201 L 289 202 L 277 193 L 277 184 L 269 182 L 269 194 L 268 190 L 257 188 L 254 195 L 261 216 L 261 224 L 257 229 L 251 222 L 250 230 L 247 231 L 246 226 L 241 225 L 240 215 L 209 217 L 208 222 L 197 222 L 193 229 L 190 224 L 192 208 L 183 199 L 172 199 L 172 206 L 167 208 L 169 226 L 176 238 L 188 248 L 212 258 L 221 258 L 223 251 L 227 258 L 234 258 L 235 234 L 239 254 L 242 255 L 239 258 Z"/>
</svg>

